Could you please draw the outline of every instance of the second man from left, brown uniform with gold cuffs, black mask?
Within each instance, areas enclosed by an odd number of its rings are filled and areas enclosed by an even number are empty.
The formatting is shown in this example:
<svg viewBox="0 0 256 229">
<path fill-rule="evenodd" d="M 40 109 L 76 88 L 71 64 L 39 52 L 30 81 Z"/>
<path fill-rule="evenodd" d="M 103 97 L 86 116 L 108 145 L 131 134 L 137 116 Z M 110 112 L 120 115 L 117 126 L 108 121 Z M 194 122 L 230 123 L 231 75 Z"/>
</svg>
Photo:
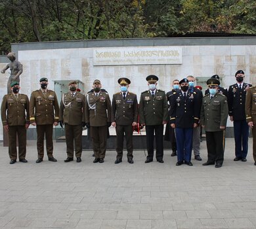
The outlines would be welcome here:
<svg viewBox="0 0 256 229">
<path fill-rule="evenodd" d="M 56 162 L 53 157 L 53 126 L 58 126 L 58 99 L 52 90 L 48 90 L 48 79 L 41 78 L 41 88 L 32 92 L 30 97 L 30 124 L 37 128 L 36 163 L 43 162 L 43 140 L 46 139 L 48 160 Z"/>
</svg>

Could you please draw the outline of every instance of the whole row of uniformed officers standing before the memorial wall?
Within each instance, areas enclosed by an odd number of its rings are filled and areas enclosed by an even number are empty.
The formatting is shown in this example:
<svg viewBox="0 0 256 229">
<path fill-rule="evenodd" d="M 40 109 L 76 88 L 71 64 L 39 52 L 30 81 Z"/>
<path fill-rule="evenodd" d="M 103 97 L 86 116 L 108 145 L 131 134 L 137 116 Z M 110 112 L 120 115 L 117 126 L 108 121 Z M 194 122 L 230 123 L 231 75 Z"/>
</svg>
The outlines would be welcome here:
<svg viewBox="0 0 256 229">
<path fill-rule="evenodd" d="M 129 92 L 131 81 L 120 78 L 120 92 L 113 95 L 112 103 L 106 90 L 102 89 L 100 80 L 93 82 L 93 89 L 85 96 L 77 88 L 77 82 L 69 83 L 69 92 L 63 94 L 60 106 L 55 92 L 47 89 L 48 79 L 39 80 L 39 90 L 28 96 L 20 94 L 18 82 L 12 82 L 11 94 L 3 97 L 1 118 L 4 129 L 9 134 L 10 164 L 17 160 L 16 135 L 18 135 L 18 159 L 26 160 L 26 129 L 32 124 L 37 130 L 36 163 L 43 161 L 44 138 L 49 161 L 57 162 L 53 156 L 53 126 L 60 124 L 65 128 L 67 158 L 64 162 L 74 160 L 81 162 L 82 130 L 87 127 L 91 137 L 95 160 L 104 162 L 108 128 L 116 128 L 116 161 L 122 162 L 123 138 L 126 139 L 127 162 L 133 164 L 133 130 L 146 128 L 148 156 L 145 163 L 154 158 L 154 136 L 156 138 L 156 160 L 163 163 L 163 126 L 165 140 L 171 141 L 171 156 L 177 155 L 176 166 L 191 162 L 200 156 L 200 137 L 202 127 L 205 129 L 207 143 L 207 162 L 203 166 L 223 166 L 224 130 L 228 114 L 234 122 L 235 155 L 234 161 L 246 161 L 249 127 L 253 133 L 253 158 L 256 166 L 256 87 L 244 82 L 244 71 L 235 74 L 236 84 L 228 90 L 219 86 L 219 76 L 213 75 L 207 80 L 208 89 L 205 96 L 202 87 L 194 86 L 195 78 L 173 80 L 173 90 L 165 92 L 157 88 L 158 77 L 146 77 L 148 90 L 137 96 Z M 112 104 L 112 105 L 111 105 Z"/>
</svg>

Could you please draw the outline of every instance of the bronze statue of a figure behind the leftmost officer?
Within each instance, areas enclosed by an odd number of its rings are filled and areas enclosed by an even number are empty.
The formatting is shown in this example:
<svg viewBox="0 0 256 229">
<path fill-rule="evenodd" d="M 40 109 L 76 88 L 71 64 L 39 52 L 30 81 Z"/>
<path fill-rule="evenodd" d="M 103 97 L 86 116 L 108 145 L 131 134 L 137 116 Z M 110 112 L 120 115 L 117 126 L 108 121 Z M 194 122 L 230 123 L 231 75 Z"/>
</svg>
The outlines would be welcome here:
<svg viewBox="0 0 256 229">
<path fill-rule="evenodd" d="M 11 60 L 11 63 L 8 63 L 2 70 L 1 70 L 1 73 L 5 73 L 5 71 L 7 69 L 10 68 L 11 70 L 11 74 L 10 74 L 10 77 L 9 77 L 9 80 L 7 82 L 7 93 L 8 94 L 11 94 L 11 83 L 13 81 L 16 81 L 18 83 L 20 83 L 20 74 L 22 73 L 23 71 L 23 67 L 22 67 L 22 64 L 20 62 L 18 62 L 16 60 L 16 57 L 15 57 L 15 53 L 14 52 L 9 52 L 9 54 L 7 55 L 7 58 L 9 60 Z"/>
</svg>

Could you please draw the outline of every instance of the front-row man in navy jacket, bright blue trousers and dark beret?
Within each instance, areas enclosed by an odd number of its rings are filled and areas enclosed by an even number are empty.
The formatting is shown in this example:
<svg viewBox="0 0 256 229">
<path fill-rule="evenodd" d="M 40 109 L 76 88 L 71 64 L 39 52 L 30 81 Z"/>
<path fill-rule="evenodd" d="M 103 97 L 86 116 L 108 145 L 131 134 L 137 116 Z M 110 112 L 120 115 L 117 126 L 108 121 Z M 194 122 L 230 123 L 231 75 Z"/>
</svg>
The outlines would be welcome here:
<svg viewBox="0 0 256 229">
<path fill-rule="evenodd" d="M 171 97 L 169 112 L 171 128 L 175 128 L 177 141 L 176 166 L 186 164 L 193 166 L 191 162 L 193 128 L 198 126 L 200 119 L 200 101 L 196 92 L 188 90 L 188 79 L 179 82 L 181 90 Z"/>
</svg>

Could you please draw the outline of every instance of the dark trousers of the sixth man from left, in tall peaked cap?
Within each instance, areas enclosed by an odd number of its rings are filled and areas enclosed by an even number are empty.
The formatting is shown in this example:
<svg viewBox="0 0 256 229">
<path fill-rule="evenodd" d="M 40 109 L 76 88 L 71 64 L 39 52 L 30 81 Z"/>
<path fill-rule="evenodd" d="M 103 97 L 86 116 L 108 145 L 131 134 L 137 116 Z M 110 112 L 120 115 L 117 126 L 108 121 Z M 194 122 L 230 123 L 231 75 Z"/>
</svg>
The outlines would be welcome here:
<svg viewBox="0 0 256 229">
<path fill-rule="evenodd" d="M 146 126 L 147 158 L 154 158 L 154 132 L 156 136 L 156 160 L 163 159 L 163 125 Z"/>
</svg>

